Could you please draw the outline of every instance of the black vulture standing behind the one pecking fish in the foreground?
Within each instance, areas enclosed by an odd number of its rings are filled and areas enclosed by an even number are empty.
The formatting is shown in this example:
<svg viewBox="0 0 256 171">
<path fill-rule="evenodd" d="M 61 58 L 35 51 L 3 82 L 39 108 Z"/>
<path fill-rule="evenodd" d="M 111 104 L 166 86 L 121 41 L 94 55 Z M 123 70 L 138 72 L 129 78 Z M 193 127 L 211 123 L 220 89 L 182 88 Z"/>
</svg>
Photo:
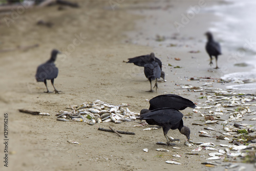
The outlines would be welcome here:
<svg viewBox="0 0 256 171">
<path fill-rule="evenodd" d="M 151 111 L 159 108 L 174 108 L 176 110 L 184 110 L 187 107 L 196 108 L 196 104 L 175 94 L 159 95 L 150 100 Z"/>
</svg>

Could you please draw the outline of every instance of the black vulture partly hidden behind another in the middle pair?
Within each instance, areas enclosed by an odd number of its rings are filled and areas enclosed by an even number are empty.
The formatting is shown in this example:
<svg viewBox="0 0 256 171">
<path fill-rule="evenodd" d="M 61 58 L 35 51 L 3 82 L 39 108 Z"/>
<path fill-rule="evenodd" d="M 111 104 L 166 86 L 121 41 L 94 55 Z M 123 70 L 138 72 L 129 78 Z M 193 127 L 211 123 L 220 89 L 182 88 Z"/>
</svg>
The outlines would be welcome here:
<svg viewBox="0 0 256 171">
<path fill-rule="evenodd" d="M 141 55 L 133 58 L 129 58 L 129 61 L 126 63 L 134 63 L 134 65 L 139 66 L 139 67 L 144 67 L 147 63 L 150 63 L 150 55 Z M 162 71 L 162 62 L 160 59 L 155 57 L 155 61 L 158 63 L 160 69 L 161 69 L 161 78 L 163 80 L 165 79 L 165 73 Z"/>
</svg>

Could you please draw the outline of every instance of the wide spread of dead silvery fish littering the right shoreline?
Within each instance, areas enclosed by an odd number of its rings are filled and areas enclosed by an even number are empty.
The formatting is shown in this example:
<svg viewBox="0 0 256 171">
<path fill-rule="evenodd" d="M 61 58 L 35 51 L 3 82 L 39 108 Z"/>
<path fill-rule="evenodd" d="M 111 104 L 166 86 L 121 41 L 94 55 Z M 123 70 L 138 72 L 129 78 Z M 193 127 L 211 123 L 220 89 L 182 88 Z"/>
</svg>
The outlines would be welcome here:
<svg viewBox="0 0 256 171">
<path fill-rule="evenodd" d="M 223 159 L 225 161 L 232 161 L 233 159 L 236 160 L 236 158 L 256 160 L 256 124 L 254 122 L 256 118 L 251 116 L 255 115 L 256 112 L 249 108 L 255 108 L 253 106 L 256 106 L 256 104 L 253 102 L 256 100 L 256 97 L 254 95 L 233 92 L 232 90 L 208 89 L 204 91 L 214 94 L 203 96 L 202 98 L 206 98 L 206 101 L 201 107 L 199 106 L 193 110 L 193 112 L 208 119 L 203 123 L 193 124 L 204 126 L 204 131 L 199 131 L 200 137 L 217 138 L 224 140 L 224 143 L 186 142 L 185 145 L 187 146 L 197 146 L 191 154 L 196 153 L 199 155 L 197 152 L 201 150 L 209 151 L 208 155 L 210 157 L 206 159 L 207 162 L 202 163 L 206 165 L 218 165 L 217 163 L 208 162 L 209 160 Z M 242 123 L 245 121 L 246 123 Z M 216 125 L 218 127 L 218 124 L 219 127 L 222 127 L 222 130 L 209 127 L 209 125 Z M 251 156 L 251 154 L 253 155 Z M 239 167 L 239 164 L 230 165 L 226 168 L 234 167 Z"/>
</svg>

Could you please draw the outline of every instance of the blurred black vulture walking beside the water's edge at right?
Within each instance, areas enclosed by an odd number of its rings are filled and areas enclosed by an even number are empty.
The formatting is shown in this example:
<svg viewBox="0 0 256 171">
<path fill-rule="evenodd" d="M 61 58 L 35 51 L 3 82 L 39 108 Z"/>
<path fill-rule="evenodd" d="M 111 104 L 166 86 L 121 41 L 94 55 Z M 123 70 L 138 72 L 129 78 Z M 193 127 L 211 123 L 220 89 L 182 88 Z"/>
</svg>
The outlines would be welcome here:
<svg viewBox="0 0 256 171">
<path fill-rule="evenodd" d="M 205 35 L 207 36 L 207 43 L 205 46 L 206 52 L 208 53 L 208 55 L 210 56 L 210 63 L 209 65 L 212 65 L 212 56 L 215 56 L 216 59 L 216 68 L 218 69 L 218 64 L 217 64 L 217 60 L 218 60 L 218 55 L 221 55 L 221 46 L 220 44 L 214 40 L 214 37 L 212 36 L 211 32 L 206 32 Z"/>
</svg>

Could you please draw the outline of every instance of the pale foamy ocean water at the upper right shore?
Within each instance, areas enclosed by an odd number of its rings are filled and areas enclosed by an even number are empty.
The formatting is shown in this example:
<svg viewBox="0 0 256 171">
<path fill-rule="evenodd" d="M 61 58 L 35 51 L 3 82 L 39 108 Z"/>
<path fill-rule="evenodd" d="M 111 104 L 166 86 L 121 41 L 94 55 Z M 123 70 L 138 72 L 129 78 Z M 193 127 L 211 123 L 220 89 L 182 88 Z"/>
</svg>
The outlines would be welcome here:
<svg viewBox="0 0 256 171">
<path fill-rule="evenodd" d="M 222 79 L 243 83 L 256 81 L 256 1 L 226 0 L 202 9 L 201 13 L 213 13 L 220 19 L 212 22 L 209 28 L 218 32 L 217 39 L 229 51 L 228 58 L 233 62 L 243 62 L 253 69 L 246 72 L 225 74 Z M 254 90 L 256 83 L 234 85 L 229 88 Z"/>
</svg>

